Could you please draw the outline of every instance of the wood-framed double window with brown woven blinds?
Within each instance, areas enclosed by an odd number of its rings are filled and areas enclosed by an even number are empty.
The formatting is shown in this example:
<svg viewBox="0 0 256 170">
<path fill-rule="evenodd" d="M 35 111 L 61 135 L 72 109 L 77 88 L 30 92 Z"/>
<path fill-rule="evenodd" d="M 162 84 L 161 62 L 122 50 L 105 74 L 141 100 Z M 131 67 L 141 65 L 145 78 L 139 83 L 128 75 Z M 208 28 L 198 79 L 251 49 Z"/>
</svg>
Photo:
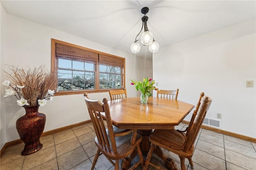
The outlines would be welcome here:
<svg viewBox="0 0 256 170">
<path fill-rule="evenodd" d="M 58 73 L 56 95 L 125 88 L 124 66 L 122 57 L 52 39 L 52 71 Z"/>
</svg>

